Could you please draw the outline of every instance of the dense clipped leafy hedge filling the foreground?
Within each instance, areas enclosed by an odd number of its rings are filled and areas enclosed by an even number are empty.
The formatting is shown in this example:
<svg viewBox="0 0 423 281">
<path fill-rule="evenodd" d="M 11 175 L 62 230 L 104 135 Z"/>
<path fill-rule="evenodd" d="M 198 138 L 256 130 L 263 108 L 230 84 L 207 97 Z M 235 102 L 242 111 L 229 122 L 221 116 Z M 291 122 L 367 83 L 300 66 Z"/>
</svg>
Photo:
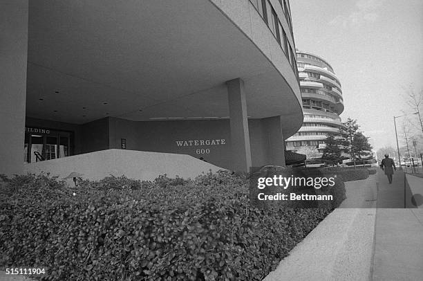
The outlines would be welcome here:
<svg viewBox="0 0 423 281">
<path fill-rule="evenodd" d="M 332 211 L 255 208 L 227 172 L 3 180 L 0 266 L 48 266 L 46 280 L 261 280 Z"/>
</svg>

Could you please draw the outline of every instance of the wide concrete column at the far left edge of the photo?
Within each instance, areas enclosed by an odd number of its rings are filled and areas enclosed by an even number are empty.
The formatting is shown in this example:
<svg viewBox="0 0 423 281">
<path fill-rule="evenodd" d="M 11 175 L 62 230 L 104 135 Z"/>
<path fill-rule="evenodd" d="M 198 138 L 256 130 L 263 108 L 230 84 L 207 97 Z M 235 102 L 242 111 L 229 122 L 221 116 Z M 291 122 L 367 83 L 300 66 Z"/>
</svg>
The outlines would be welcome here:
<svg viewBox="0 0 423 281">
<path fill-rule="evenodd" d="M 28 0 L 0 3 L 0 174 L 21 174 L 25 137 Z"/>
</svg>

